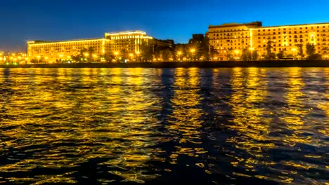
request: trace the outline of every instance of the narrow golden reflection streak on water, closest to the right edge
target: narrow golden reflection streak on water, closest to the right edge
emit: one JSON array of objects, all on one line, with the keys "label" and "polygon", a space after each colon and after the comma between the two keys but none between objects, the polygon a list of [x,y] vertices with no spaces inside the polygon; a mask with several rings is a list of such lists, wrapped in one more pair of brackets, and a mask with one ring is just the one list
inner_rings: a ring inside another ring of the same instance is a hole
[{"label": "narrow golden reflection streak on water, closest to the right edge", "polygon": [[302,135],[302,133],[304,133],[303,129],[305,128],[302,118],[304,118],[308,110],[304,109],[304,104],[302,103],[304,96],[302,88],[304,87],[304,83],[302,82],[301,69],[290,69],[288,76],[288,91],[285,95],[288,108],[283,109],[285,116],[281,119],[287,124],[289,130],[294,131],[292,135],[287,135],[284,142],[290,146],[295,146],[296,143],[306,144],[311,142],[311,136],[305,137]]}]

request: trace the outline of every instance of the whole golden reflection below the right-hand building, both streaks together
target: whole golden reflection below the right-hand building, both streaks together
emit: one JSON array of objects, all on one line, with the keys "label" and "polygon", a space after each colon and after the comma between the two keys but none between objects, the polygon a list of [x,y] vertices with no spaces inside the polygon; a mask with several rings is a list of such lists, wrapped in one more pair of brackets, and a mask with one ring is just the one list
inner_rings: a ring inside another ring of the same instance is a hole
[{"label": "whole golden reflection below the right-hand building, both streaks together", "polygon": [[[311,132],[310,130],[314,129],[312,126],[318,127],[319,124],[312,125],[304,123],[304,120],[307,119],[306,116],[312,110],[305,105],[307,104],[307,97],[318,98],[315,96],[318,94],[306,95],[303,93],[305,84],[302,81],[302,69],[292,68],[280,71],[280,73],[287,73],[283,81],[280,82],[286,85],[286,88],[283,89],[283,92],[285,92],[283,93],[283,100],[277,101],[284,101],[286,105],[270,110],[264,106],[266,103],[271,104],[271,102],[267,102],[266,100],[269,98],[269,92],[267,90],[268,82],[265,80],[266,69],[233,69],[231,78],[233,93],[230,101],[232,107],[231,114],[233,116],[231,122],[233,124],[227,127],[236,131],[237,135],[226,139],[226,142],[234,144],[237,149],[242,149],[241,152],[247,152],[248,154],[243,155],[236,150],[231,151],[230,154],[226,154],[236,159],[231,163],[233,167],[243,167],[245,169],[245,173],[233,173],[237,176],[247,177],[250,176],[250,172],[257,172],[256,169],[259,166],[268,166],[280,171],[281,175],[257,174],[254,177],[273,179],[282,183],[292,183],[296,179],[303,179],[299,175],[300,170],[316,169],[319,167],[316,164],[298,160],[281,160],[279,163],[278,161],[269,160],[271,153],[268,153],[268,151],[282,149],[283,146],[281,144],[287,145],[288,148],[296,147],[298,144],[299,146],[292,149],[292,151],[302,151],[302,149],[307,151],[306,149],[308,147],[311,149],[314,146],[321,146],[321,143],[323,143],[318,137],[314,138],[314,135],[312,137],[312,135],[308,134],[308,132]],[[311,75],[312,78],[317,77],[314,74]],[[309,85],[313,84],[309,83]],[[276,95],[275,97],[280,96]],[[328,104],[328,101],[326,104]],[[325,110],[323,107],[322,109]],[[273,118],[280,118],[281,122],[276,121],[273,123]],[[320,123],[320,127],[322,126],[323,123]],[[276,128],[273,131],[276,135],[281,136],[271,136],[271,128]],[[301,146],[301,144],[305,146]],[[250,157],[248,158],[247,156]],[[314,163],[319,163],[318,160],[321,160],[321,156],[314,155],[313,153],[305,154],[303,158],[312,158],[312,160],[316,160]],[[278,166],[290,170],[283,170],[278,168]]]}]

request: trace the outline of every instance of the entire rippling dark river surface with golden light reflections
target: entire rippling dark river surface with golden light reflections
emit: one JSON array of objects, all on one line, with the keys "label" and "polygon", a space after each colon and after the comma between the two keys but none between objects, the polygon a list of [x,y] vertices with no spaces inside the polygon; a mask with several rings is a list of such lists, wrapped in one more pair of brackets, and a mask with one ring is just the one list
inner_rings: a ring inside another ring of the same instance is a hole
[{"label": "entire rippling dark river surface with golden light reflections", "polygon": [[328,184],[329,68],[0,69],[0,184]]}]

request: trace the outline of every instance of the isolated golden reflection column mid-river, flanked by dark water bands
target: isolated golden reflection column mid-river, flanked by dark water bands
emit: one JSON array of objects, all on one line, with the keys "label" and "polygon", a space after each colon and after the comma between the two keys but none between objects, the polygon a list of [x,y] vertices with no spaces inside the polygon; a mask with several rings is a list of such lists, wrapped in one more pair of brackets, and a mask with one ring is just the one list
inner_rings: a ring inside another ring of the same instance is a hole
[{"label": "isolated golden reflection column mid-river, flanked by dark water bands", "polygon": [[201,129],[203,121],[200,91],[199,69],[176,69],[172,115],[167,129],[177,141],[176,151],[172,151],[171,163],[179,163],[183,156],[199,157],[206,151],[202,148]]}]

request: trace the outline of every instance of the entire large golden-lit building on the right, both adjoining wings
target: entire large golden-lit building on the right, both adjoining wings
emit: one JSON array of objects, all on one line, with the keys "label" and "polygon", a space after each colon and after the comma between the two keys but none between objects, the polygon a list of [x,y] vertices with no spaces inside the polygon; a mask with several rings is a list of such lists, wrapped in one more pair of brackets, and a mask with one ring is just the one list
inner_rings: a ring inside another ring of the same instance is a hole
[{"label": "entire large golden-lit building on the right, both adjoining wings", "polygon": [[302,44],[306,55],[307,43],[312,43],[316,53],[325,55],[329,46],[329,23],[274,27],[262,27],[262,22],[211,25],[207,36],[218,52],[217,60],[227,60],[229,53],[238,56],[244,48],[256,50],[259,57],[264,58],[269,41],[272,53],[283,50],[285,55],[295,56]]}]

